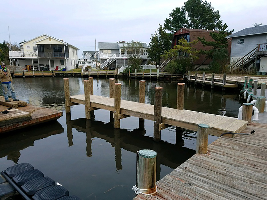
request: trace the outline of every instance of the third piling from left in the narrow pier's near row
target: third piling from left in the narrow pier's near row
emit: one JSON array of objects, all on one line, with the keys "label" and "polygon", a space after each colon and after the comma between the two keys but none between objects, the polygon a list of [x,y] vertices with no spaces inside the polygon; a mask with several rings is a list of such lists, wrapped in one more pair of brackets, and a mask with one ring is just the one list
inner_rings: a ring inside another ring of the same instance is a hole
[{"label": "third piling from left in the narrow pier's near row", "polygon": [[120,98],[121,98],[121,83],[115,83],[115,99],[114,99],[114,128],[120,128]]}]

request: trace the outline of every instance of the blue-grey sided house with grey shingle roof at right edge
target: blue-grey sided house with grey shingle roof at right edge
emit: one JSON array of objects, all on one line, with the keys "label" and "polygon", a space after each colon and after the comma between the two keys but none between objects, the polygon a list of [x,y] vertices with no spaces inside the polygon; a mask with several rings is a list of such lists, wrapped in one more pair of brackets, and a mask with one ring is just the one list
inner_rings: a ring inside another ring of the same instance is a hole
[{"label": "blue-grey sided house with grey shingle roof at right edge", "polygon": [[245,28],[226,38],[232,38],[233,67],[243,66],[246,69],[256,61],[257,71],[267,71],[267,57],[262,57],[267,55],[267,25]]}]

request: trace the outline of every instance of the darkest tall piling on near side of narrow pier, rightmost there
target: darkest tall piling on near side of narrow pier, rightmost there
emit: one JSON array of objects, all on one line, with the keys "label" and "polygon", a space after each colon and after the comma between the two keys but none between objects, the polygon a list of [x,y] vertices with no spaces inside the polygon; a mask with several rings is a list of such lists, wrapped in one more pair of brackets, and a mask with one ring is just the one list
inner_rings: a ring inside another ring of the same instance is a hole
[{"label": "darkest tall piling on near side of narrow pier, rightmost there", "polygon": [[161,123],[161,105],[162,105],[162,87],[155,87],[154,100],[154,141],[159,142],[161,139],[161,131],[159,125]]}]

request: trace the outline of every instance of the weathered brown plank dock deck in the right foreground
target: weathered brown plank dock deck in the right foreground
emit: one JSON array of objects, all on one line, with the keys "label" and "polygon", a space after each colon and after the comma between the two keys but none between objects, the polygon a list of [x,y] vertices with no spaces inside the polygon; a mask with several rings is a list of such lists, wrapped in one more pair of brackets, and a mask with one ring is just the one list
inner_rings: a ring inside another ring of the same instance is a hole
[{"label": "weathered brown plank dock deck in the right foreground", "polygon": [[249,123],[250,135],[220,137],[156,184],[145,199],[267,199],[267,124]]}]

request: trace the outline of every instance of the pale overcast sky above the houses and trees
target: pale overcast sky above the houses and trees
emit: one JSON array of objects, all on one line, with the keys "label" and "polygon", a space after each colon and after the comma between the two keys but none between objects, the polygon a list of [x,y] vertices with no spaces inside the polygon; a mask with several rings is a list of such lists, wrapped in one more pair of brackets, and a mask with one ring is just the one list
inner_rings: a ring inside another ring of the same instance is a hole
[{"label": "pale overcast sky above the houses and trees", "polygon": [[[253,23],[267,25],[266,0],[207,0],[223,23],[239,31]],[[150,42],[150,36],[184,0],[1,0],[0,41],[29,40],[48,34],[80,48],[96,42]]]}]

